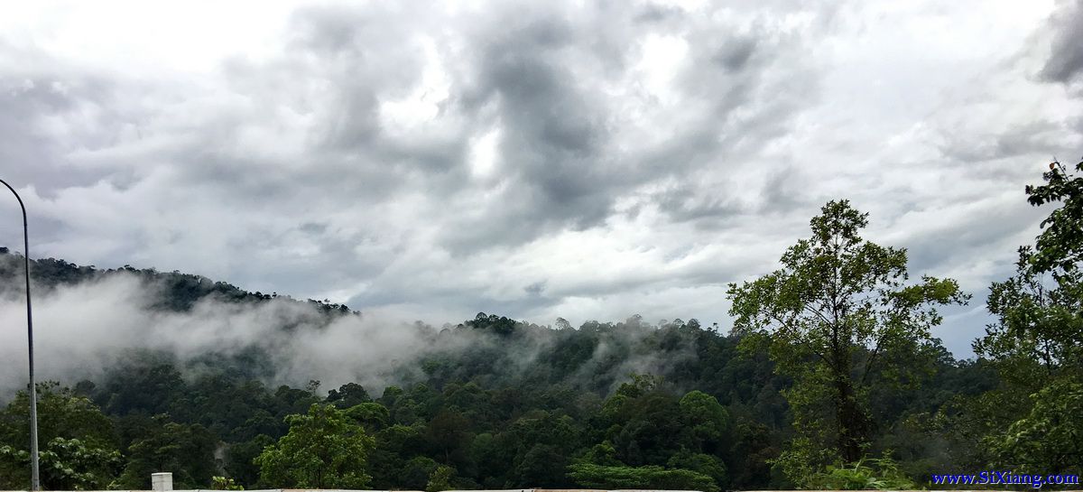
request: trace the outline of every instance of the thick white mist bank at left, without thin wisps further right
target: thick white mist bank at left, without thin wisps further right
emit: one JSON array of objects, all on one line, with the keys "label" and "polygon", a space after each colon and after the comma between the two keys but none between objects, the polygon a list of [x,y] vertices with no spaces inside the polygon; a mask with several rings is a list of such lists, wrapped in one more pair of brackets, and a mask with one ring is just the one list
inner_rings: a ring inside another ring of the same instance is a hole
[{"label": "thick white mist bank at left, without thin wisps further right", "polygon": [[[325,388],[347,381],[383,387],[388,380],[381,374],[431,350],[423,340],[435,335],[378,311],[328,319],[311,303],[286,298],[237,303],[207,297],[187,312],[164,311],[153,308],[159,287],[127,272],[35,293],[38,380],[95,380],[132,349],[167,352],[187,363],[258,348],[273,362],[269,384],[318,379]],[[27,380],[26,331],[18,329],[26,325],[26,305],[11,294],[0,303],[0,325],[6,327],[0,333],[3,394]]]}]

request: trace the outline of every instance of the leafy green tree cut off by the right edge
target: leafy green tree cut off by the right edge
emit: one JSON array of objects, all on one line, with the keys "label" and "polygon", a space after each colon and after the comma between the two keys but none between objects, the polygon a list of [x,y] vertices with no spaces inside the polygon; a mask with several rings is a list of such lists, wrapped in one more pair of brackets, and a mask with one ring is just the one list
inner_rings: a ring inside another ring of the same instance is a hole
[{"label": "leafy green tree cut off by the right edge", "polygon": [[[1042,221],[1034,246],[1019,249],[1016,274],[990,287],[996,321],[974,349],[1003,383],[970,413],[984,416],[991,465],[1062,471],[1083,466],[1083,177],[1053,163],[1042,178],[1026,187],[1027,200],[1059,207]],[[1005,400],[1010,411],[994,411]]]}]

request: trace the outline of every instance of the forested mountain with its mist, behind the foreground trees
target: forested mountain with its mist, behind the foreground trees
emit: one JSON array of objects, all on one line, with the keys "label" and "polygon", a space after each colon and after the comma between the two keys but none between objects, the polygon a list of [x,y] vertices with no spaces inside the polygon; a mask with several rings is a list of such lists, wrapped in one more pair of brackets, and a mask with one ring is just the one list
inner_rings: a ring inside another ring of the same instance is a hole
[{"label": "forested mountain with its mist, behind the foreground trees", "polygon": [[[82,482],[50,476],[49,488],[146,488],[159,469],[173,471],[179,488],[206,488],[214,476],[270,487],[253,458],[287,435],[287,416],[313,404],[340,409],[373,438],[366,472],[375,489],[422,489],[436,476],[490,489],[614,477],[701,489],[787,484],[768,459],[793,435],[783,398],[791,380],[766,352],[742,353],[739,337],[696,320],[636,315],[573,328],[479,313],[434,327],[180,272],[55,259],[32,260],[30,271],[43,340],[50,331],[68,334],[53,340],[76,340],[67,355],[39,345],[75,361],[40,389],[42,449],[63,459],[67,439],[117,456]],[[22,257],[0,250],[0,298],[12,320],[21,275]],[[105,327],[64,316],[73,311],[99,313]],[[80,338],[81,329],[99,335]],[[97,355],[80,359],[83,351]],[[996,385],[982,364],[945,350],[936,368],[923,389],[871,396],[870,451],[893,449],[915,476],[943,458],[937,442],[915,442],[915,416]],[[26,442],[25,393],[13,397],[0,416],[9,450]],[[0,489],[22,487],[17,453],[2,456]]]}]

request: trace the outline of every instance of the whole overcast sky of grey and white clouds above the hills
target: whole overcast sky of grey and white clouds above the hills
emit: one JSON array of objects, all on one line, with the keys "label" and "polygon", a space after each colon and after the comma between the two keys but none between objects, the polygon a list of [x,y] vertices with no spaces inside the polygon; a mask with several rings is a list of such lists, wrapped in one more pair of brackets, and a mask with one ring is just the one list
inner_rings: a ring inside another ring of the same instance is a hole
[{"label": "whole overcast sky of grey and white clouds above the hills", "polygon": [[[832,198],[975,294],[1083,154],[1083,2],[3,2],[31,256],[440,324],[731,324]],[[21,241],[14,200],[0,243]],[[45,329],[45,327],[41,327]]]}]

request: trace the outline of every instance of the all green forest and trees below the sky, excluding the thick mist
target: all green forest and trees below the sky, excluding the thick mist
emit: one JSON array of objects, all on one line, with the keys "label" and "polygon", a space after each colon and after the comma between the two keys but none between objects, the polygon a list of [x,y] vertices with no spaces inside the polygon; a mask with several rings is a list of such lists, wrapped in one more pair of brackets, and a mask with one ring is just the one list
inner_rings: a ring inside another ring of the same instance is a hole
[{"label": "all green forest and trees below the sky, excluding the thick mist", "polygon": [[[1078,472],[1083,178],[1058,167],[1044,178],[1020,206],[1029,199],[1049,219],[1020,249],[1018,274],[991,294],[910,279],[905,249],[862,237],[867,215],[838,200],[780,270],[731,285],[733,329],[639,315],[539,326],[479,313],[396,327],[417,350],[356,375],[382,385],[334,387],[319,374],[283,385],[282,361],[259,344],[198,357],[123,348],[93,378],[39,385],[43,487],[146,489],[160,470],[179,489],[703,491]],[[0,255],[5,298],[23,295],[21,266],[17,254]],[[304,323],[275,327],[298,340],[365,316],[178,272],[54,259],[30,271],[42,296],[134,277],[156,299],[149,309],[179,315],[208,302],[298,307]],[[987,294],[997,322],[976,340],[977,360],[955,360],[930,335],[936,309]],[[3,398],[0,489],[25,489],[28,399]]]}]

